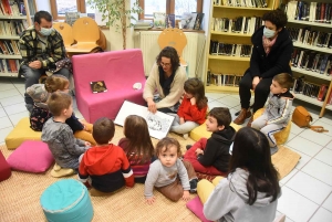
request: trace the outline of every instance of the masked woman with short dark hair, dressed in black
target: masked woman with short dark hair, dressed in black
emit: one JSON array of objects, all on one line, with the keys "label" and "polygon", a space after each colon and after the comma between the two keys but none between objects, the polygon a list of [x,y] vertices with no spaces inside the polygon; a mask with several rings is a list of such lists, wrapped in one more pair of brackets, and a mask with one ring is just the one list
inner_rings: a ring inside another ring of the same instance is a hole
[{"label": "masked woman with short dark hair, dressed in black", "polygon": [[255,101],[252,112],[262,108],[270,93],[270,85],[274,75],[280,73],[292,74],[289,65],[293,51],[293,43],[289,32],[284,29],[287,15],[277,9],[267,12],[262,20],[264,25],[259,28],[251,36],[253,44],[250,57],[250,67],[245,72],[239,84],[241,110],[234,120],[241,125],[249,117],[247,126],[251,126],[252,115],[249,110],[251,93],[253,89]]}]

